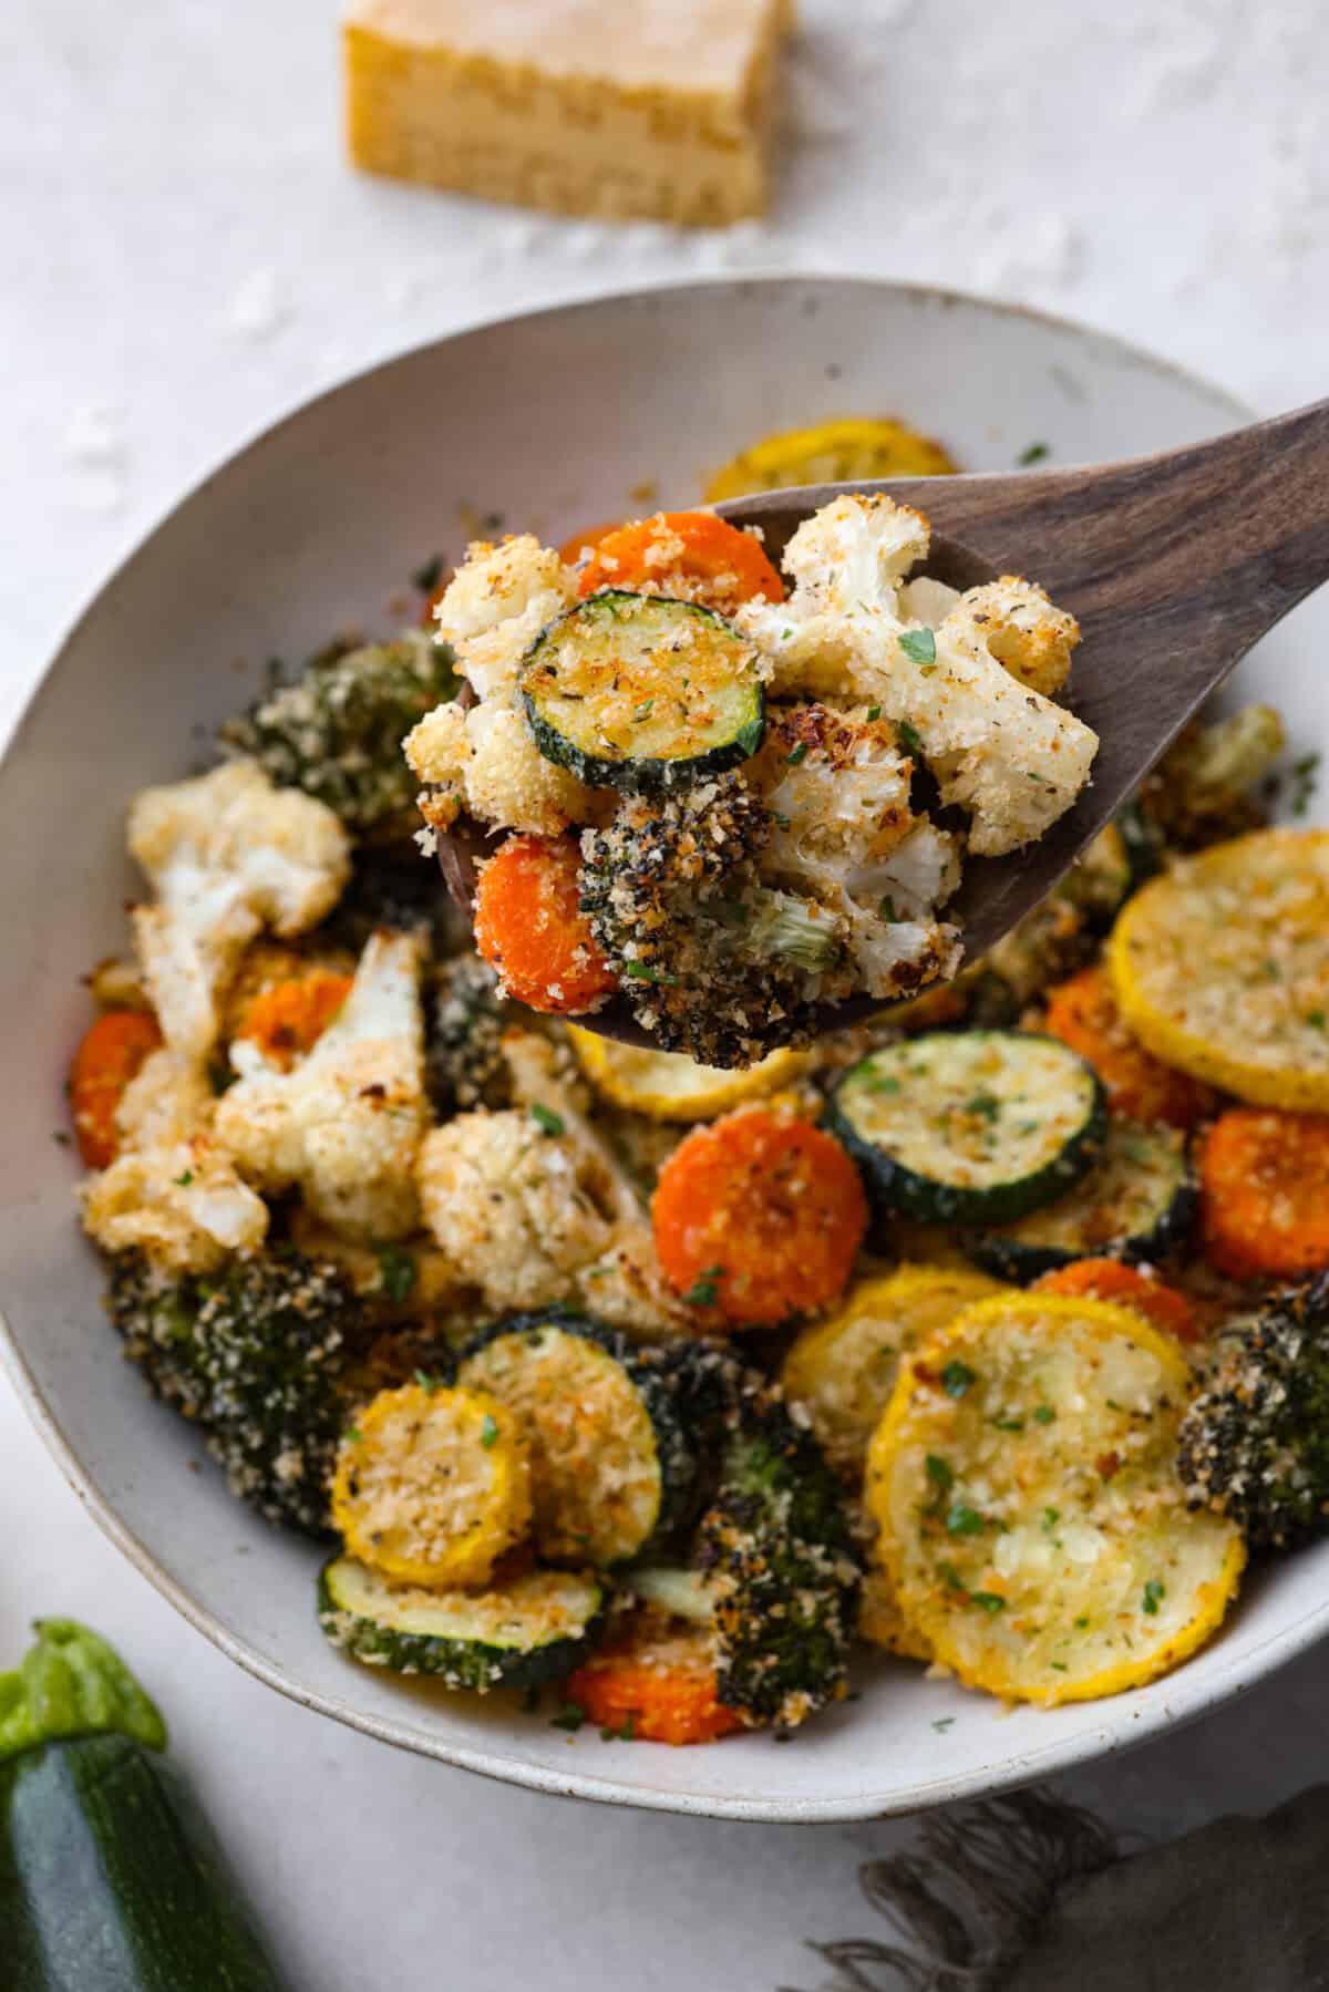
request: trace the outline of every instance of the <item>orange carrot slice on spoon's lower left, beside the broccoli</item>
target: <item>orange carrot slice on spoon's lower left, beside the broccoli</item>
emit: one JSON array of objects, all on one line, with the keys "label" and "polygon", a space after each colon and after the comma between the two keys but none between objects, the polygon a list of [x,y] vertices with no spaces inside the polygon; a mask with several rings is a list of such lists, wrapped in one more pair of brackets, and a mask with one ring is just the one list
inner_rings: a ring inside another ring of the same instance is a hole
[{"label": "orange carrot slice on spoon's lower left, beside the broccoli", "polygon": [[618,988],[582,912],[572,837],[510,837],[480,869],[476,948],[516,1002],[554,1016],[598,1010]]}]

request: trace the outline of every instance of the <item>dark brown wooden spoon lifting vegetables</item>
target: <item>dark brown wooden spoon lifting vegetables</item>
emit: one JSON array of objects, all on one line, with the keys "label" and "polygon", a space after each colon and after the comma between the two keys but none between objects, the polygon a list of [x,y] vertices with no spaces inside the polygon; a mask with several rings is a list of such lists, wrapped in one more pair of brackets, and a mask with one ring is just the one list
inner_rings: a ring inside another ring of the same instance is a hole
[{"label": "dark brown wooden spoon lifting vegetables", "polygon": [[[934,528],[927,574],[954,588],[1024,574],[1084,633],[1068,703],[1100,737],[1094,779],[1036,845],[964,861],[946,918],[974,960],[1048,896],[1251,643],[1329,580],[1329,400],[1122,464],[811,484],[717,512],[759,526],[779,562],[795,528],[843,492],[925,512]],[[474,861],[490,841],[458,825],[438,843],[448,886],[470,910]],[[855,996],[827,1008],[825,1028],[883,1008]],[[650,1042],[626,1002],[580,1022]]]}]

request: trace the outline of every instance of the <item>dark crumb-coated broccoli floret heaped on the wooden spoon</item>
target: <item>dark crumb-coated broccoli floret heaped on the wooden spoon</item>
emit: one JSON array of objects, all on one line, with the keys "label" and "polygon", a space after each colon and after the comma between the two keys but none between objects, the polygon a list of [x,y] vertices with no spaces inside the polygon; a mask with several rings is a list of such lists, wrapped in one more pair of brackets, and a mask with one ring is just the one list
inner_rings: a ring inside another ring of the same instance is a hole
[{"label": "dark crumb-coated broccoli floret heaped on the wooden spoon", "polygon": [[757,878],[765,805],[743,775],[665,797],[630,797],[582,837],[582,910],[665,1052],[751,1066],[807,1042],[833,922]]}]

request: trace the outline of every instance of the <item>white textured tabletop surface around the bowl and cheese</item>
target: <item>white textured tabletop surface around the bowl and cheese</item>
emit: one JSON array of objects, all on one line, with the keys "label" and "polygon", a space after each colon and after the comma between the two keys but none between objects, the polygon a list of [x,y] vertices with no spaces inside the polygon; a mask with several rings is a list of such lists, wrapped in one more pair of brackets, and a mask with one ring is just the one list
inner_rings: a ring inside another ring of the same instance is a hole
[{"label": "white textured tabletop surface around the bowl and cheese", "polygon": [[[727,237],[355,179],[331,14],[0,10],[18,112],[0,131],[0,723],[110,562],[243,434],[351,367],[546,297],[867,269],[1082,313],[1269,408],[1325,388],[1319,0],[803,0],[781,209]],[[817,1980],[799,1938],[871,1926],[853,1867],[899,1829],[574,1811],[281,1703],[102,1542],[8,1398],[0,1512],[22,1518],[0,1653],[52,1610],[124,1641],[309,1988],[506,1992],[538,1968],[550,1992],[759,1992]],[[1144,1829],[1271,1803],[1323,1763],[1321,1671],[1311,1655],[1074,1791]]]}]

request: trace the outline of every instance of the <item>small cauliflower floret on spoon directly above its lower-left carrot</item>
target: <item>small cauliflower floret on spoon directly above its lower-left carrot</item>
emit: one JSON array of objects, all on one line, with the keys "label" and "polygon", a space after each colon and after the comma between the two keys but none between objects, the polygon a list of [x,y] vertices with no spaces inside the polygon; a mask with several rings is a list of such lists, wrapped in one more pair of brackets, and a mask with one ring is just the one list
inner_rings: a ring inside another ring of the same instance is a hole
[{"label": "small cauliflower floret on spoon directly above its lower-left carrot", "polygon": [[420,811],[436,831],[464,809],[496,829],[558,837],[592,813],[590,789],[544,759],[514,705],[440,705],[406,737],[406,759],[426,783]]}]

